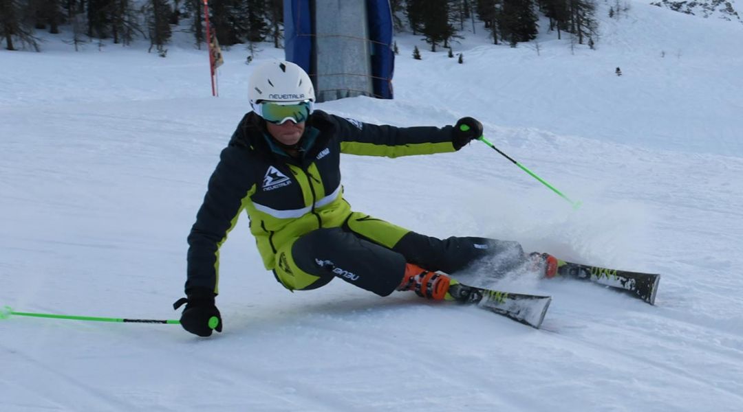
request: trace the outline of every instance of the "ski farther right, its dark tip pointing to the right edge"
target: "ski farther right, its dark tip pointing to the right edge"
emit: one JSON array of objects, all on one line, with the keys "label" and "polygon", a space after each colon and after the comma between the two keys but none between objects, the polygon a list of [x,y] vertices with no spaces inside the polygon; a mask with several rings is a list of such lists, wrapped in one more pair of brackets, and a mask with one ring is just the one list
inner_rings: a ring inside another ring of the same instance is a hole
[{"label": "ski farther right, its dark tip pointing to the right edge", "polygon": [[559,259],[557,276],[597,283],[641,299],[650,305],[655,305],[655,294],[658,293],[658,282],[661,280],[661,275],[657,273],[599,268]]}]

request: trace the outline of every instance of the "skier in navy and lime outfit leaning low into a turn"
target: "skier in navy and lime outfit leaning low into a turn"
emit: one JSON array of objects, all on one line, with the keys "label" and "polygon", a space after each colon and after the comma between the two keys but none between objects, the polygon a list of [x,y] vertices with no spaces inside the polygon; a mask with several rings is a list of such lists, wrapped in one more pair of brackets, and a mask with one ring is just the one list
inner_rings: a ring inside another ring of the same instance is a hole
[{"label": "skier in navy and lime outfit leaning low into a turn", "polygon": [[343,199],[340,153],[454,152],[482,136],[476,119],[441,128],[393,127],[314,110],[312,82],[291,62],[256,67],[248,96],[253,111],[222,150],[188,236],[187,297],[173,306],[186,304],[181,325],[189,332],[210,336],[212,329],[222,330],[215,306],[219,247],[242,210],[263,265],[288,290],[319,288],[339,277],[379,296],[414,290],[429,299],[450,299],[447,291],[456,281],[444,273],[495,255],[506,267],[534,261],[554,275],[557,259],[525,255],[516,242],[436,239],[353,211]]}]

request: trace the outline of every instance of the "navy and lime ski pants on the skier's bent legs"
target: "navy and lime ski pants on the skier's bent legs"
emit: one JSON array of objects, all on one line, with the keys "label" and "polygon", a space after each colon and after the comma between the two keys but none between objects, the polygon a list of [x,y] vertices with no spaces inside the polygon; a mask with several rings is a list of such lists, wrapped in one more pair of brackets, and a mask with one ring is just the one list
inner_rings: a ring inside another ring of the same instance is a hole
[{"label": "navy and lime ski pants on the skier's bent legs", "polygon": [[313,230],[279,250],[273,273],[290,290],[316,289],[339,277],[387,296],[402,282],[406,263],[454,274],[499,254],[520,262],[523,250],[517,242],[481,237],[437,239],[352,213],[343,226]]}]

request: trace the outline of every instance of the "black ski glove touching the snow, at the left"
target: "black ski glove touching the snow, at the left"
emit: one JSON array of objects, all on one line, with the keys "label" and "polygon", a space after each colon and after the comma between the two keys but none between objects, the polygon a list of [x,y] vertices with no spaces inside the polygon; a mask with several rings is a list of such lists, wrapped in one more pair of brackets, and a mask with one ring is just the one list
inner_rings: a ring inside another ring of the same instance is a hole
[{"label": "black ski glove touching the snow, at the left", "polygon": [[[188,298],[178,299],[173,309],[178,310],[186,304],[181,314],[181,326],[198,336],[211,336],[212,330],[222,331],[222,316],[214,305],[214,292],[207,288],[189,290]],[[213,318],[213,319],[212,319]]]}]

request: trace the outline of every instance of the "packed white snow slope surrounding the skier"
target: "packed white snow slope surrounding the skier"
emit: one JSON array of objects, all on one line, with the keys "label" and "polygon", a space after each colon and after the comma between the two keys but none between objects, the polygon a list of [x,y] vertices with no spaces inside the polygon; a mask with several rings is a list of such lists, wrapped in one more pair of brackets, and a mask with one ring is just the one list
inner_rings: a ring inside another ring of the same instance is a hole
[{"label": "packed white snow slope surrounding the skier", "polygon": [[[493,46],[478,26],[457,64],[398,36],[394,100],[319,107],[398,126],[481,119],[583,207],[479,142],[345,156],[346,199],[433,236],[662,273],[656,306],[478,271],[470,282],[553,296],[543,328],[338,279],[289,293],[242,218],[221,251],[224,333],[11,316],[0,411],[741,411],[743,25],[648,2],[620,20],[602,3],[597,50],[554,33],[539,50]],[[186,235],[255,64],[226,52],[215,99],[186,41],[166,59],[144,44],[42,47],[0,51],[0,307],[178,319]],[[266,45],[256,61],[280,57]]]}]

